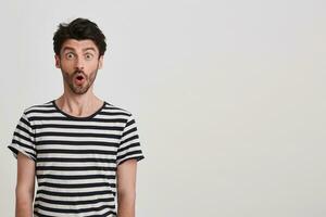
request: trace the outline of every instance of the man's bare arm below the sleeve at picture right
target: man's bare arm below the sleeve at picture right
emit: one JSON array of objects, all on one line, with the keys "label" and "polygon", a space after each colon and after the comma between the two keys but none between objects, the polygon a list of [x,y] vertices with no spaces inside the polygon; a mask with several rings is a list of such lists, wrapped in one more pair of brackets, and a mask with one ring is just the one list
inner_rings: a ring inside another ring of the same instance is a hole
[{"label": "man's bare arm below the sleeve at picture right", "polygon": [[135,217],[137,161],[117,166],[117,216]]}]

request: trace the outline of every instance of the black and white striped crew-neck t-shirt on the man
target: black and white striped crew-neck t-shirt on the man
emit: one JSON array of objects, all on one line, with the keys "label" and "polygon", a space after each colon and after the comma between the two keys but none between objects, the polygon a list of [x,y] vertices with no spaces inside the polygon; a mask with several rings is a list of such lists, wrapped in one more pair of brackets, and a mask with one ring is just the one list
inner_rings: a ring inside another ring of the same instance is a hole
[{"label": "black and white striped crew-neck t-shirt on the man", "polygon": [[35,217],[115,217],[116,168],[145,158],[131,113],[105,101],[88,117],[29,106],[8,148],[36,163]]}]

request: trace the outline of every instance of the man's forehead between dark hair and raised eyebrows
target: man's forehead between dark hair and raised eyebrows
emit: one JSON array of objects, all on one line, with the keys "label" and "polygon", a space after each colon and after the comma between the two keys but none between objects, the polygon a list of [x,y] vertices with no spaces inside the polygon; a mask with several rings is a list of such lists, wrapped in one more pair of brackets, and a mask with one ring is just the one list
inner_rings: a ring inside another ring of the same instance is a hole
[{"label": "man's forehead between dark hair and raised eyebrows", "polygon": [[84,51],[86,49],[93,49],[99,52],[96,43],[90,39],[76,40],[76,39],[67,39],[63,42],[61,47],[61,51],[64,50],[74,50],[74,51]]}]

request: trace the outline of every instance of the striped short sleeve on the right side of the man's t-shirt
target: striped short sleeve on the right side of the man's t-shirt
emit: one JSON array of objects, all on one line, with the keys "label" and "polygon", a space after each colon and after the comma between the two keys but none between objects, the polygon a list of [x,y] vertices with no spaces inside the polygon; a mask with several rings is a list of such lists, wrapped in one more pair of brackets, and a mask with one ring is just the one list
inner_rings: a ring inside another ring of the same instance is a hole
[{"label": "striped short sleeve on the right side of the man's t-shirt", "polygon": [[124,127],[121,142],[117,149],[116,165],[118,166],[127,159],[136,158],[137,162],[143,159],[138,130],[135,118],[130,114]]}]

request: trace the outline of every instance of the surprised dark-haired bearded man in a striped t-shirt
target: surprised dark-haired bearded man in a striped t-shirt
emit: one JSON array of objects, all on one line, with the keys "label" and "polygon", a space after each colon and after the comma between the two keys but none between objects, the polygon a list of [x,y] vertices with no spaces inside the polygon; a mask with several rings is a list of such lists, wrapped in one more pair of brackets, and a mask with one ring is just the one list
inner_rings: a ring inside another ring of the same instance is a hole
[{"label": "surprised dark-haired bearded man in a striped t-shirt", "polygon": [[53,47],[64,92],[25,108],[8,146],[17,158],[16,217],[134,217],[145,158],[135,118],[92,91],[105,37],[76,18],[59,25]]}]

